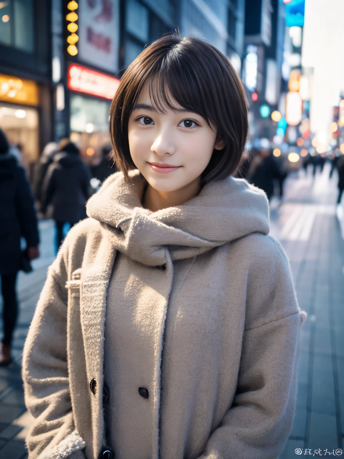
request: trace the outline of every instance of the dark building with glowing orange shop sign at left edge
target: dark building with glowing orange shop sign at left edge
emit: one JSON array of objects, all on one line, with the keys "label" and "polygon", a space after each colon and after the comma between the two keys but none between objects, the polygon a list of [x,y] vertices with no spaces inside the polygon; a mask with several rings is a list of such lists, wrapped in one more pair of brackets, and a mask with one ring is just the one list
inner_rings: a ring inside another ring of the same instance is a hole
[{"label": "dark building with glowing orange shop sign at left edge", "polygon": [[28,166],[51,139],[50,7],[0,2],[0,128]]}]

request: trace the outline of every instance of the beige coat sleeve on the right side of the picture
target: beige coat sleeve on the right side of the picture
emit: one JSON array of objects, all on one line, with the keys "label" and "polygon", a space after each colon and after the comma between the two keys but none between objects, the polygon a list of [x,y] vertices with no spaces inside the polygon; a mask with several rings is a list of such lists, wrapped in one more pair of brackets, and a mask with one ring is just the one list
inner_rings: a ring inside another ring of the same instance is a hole
[{"label": "beige coat sleeve on the right side of the picture", "polygon": [[303,315],[282,248],[257,264],[248,276],[237,391],[199,459],[276,459],[291,431]]}]

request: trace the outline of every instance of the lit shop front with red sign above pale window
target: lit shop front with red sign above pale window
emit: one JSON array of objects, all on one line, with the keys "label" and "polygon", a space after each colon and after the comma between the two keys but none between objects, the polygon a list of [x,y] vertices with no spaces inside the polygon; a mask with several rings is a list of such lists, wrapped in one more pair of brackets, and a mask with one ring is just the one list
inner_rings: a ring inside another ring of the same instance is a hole
[{"label": "lit shop front with red sign above pale window", "polygon": [[71,140],[78,144],[85,162],[100,159],[103,146],[110,145],[109,116],[119,80],[78,64],[68,68],[67,86],[71,90]]}]

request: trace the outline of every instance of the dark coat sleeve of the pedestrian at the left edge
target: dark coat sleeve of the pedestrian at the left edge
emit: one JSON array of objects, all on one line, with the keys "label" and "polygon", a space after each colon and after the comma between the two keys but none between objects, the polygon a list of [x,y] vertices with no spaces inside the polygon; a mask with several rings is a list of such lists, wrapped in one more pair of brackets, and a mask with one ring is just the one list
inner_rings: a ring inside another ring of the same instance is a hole
[{"label": "dark coat sleeve of the pedestrian at the left edge", "polygon": [[33,194],[22,167],[17,168],[17,174],[15,202],[22,235],[28,246],[37,246],[39,233]]}]

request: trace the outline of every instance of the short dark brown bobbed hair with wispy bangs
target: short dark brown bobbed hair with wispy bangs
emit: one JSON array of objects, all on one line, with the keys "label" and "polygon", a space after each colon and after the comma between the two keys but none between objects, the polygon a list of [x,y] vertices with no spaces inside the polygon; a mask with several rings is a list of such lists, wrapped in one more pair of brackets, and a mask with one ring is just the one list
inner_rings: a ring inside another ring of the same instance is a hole
[{"label": "short dark brown bobbed hair with wispy bangs", "polygon": [[234,174],[248,133],[243,85],[227,57],[214,46],[173,34],[155,41],[129,65],[112,101],[113,159],[124,175],[136,168],[129,151],[128,121],[146,81],[157,110],[173,109],[176,101],[216,126],[225,147],[213,151],[202,183]]}]

